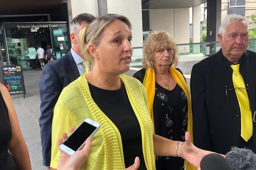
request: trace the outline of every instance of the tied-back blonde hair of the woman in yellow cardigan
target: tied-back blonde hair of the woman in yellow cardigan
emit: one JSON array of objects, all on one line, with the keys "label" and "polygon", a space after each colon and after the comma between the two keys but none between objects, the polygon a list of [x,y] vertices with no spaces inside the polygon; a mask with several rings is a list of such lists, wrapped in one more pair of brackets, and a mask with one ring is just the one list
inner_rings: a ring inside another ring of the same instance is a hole
[{"label": "tied-back blonde hair of the woman in yellow cardigan", "polygon": [[101,41],[104,28],[115,20],[125,22],[128,25],[129,29],[132,29],[132,24],[129,19],[123,15],[118,14],[102,15],[95,19],[93,22],[91,22],[89,26],[84,26],[81,28],[79,33],[81,52],[83,58],[85,60],[90,60],[92,65],[94,64],[94,57],[91,56],[89,52],[89,44],[94,44],[95,46],[98,46]]}]

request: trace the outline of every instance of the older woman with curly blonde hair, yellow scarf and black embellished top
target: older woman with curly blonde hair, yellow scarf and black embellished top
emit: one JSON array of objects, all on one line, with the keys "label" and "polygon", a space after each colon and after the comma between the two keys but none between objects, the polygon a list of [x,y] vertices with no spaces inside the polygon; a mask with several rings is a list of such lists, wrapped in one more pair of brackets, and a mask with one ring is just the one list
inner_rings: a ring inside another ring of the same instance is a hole
[{"label": "older woman with curly blonde hair, yellow scarf and black embellished top", "polygon": [[[155,31],[143,46],[144,69],[136,72],[133,77],[140,80],[147,90],[155,134],[169,140],[185,141],[185,132],[188,131],[193,142],[190,92],[181,70],[174,68],[177,63],[175,40],[165,31]],[[170,167],[181,170],[183,165],[182,158],[156,157],[159,170]]]}]

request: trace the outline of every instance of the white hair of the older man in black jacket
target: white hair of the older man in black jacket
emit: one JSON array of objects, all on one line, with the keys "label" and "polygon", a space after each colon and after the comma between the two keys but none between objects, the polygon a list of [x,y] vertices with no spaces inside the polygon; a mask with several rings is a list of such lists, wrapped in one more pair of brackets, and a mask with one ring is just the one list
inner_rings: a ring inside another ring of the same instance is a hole
[{"label": "white hair of the older man in black jacket", "polygon": [[219,27],[219,34],[222,34],[222,36],[223,36],[223,38],[224,38],[225,31],[226,31],[226,27],[227,27],[228,25],[230,25],[231,23],[237,22],[237,21],[244,21],[244,23],[246,24],[246,26],[247,26],[247,28],[248,28],[249,22],[248,22],[248,20],[246,19],[245,16],[243,17],[243,16],[238,15],[238,14],[228,14],[228,15],[224,18],[224,20],[223,20],[221,26]]}]

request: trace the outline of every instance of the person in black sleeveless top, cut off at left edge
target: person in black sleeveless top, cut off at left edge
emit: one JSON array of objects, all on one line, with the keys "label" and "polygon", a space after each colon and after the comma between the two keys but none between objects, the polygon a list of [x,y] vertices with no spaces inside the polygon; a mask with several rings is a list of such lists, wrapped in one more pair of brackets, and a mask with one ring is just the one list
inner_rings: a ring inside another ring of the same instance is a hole
[{"label": "person in black sleeveless top, cut off at left edge", "polygon": [[0,169],[31,170],[29,152],[7,88],[0,83]]}]

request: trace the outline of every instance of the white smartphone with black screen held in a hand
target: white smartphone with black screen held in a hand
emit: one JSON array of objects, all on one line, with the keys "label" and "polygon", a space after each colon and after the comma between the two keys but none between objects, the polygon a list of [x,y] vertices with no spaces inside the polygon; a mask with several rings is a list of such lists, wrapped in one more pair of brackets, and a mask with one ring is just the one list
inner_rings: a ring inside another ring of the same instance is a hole
[{"label": "white smartphone with black screen held in a hand", "polygon": [[76,151],[83,148],[85,141],[88,137],[92,137],[97,130],[99,130],[100,124],[91,120],[85,119],[68,137],[61,143],[59,148],[67,153],[73,155]]}]

